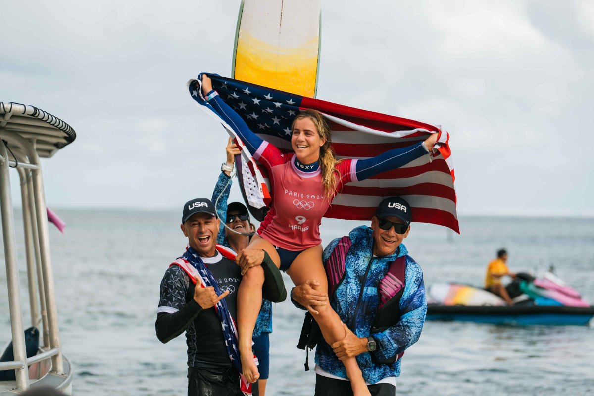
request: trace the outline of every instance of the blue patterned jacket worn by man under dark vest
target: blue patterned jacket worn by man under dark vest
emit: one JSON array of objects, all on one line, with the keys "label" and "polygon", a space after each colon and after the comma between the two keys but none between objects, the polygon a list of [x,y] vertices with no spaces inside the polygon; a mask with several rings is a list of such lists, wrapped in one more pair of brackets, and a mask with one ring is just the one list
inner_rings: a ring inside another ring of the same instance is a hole
[{"label": "blue patterned jacket worn by man under dark vest", "polygon": [[[367,226],[353,229],[349,233],[349,237],[353,244],[346,256],[345,278],[337,287],[334,295],[330,296],[330,305],[355,335],[358,337],[372,335],[375,338],[378,346],[377,351],[362,353],[356,357],[365,381],[375,384],[380,379],[388,376],[399,376],[400,359],[391,365],[383,365],[374,363],[371,359],[371,353],[375,353],[380,360],[390,359],[390,357],[395,357],[405,351],[421,335],[425,322],[425,313],[427,312],[423,273],[421,267],[408,256],[408,251],[403,244],[400,244],[394,255],[374,257],[372,254],[373,231]],[[324,249],[324,262],[330,257],[339,239],[334,239]],[[400,299],[400,319],[392,327],[371,334],[371,325],[380,302],[378,283],[386,275],[388,264],[405,255],[405,290]],[[371,268],[365,277],[366,269],[371,260],[373,260]],[[361,294],[361,302],[358,304],[362,285],[364,285],[364,289]],[[315,363],[332,375],[348,378],[345,366],[337,359],[330,346],[323,339],[318,342],[315,351]]]}]

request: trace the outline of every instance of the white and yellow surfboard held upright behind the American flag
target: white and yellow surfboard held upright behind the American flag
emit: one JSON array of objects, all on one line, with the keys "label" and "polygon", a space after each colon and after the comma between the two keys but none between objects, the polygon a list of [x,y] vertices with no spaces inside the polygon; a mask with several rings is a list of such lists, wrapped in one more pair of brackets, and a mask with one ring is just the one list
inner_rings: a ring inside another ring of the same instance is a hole
[{"label": "white and yellow surfboard held upright behind the American flag", "polygon": [[[302,96],[315,97],[320,69],[321,0],[242,0],[235,30],[231,76]],[[268,207],[259,180],[235,157],[249,212],[264,220]],[[268,185],[266,175],[264,182]],[[270,188],[268,188],[270,191]],[[268,191],[265,197],[270,198]]]}]

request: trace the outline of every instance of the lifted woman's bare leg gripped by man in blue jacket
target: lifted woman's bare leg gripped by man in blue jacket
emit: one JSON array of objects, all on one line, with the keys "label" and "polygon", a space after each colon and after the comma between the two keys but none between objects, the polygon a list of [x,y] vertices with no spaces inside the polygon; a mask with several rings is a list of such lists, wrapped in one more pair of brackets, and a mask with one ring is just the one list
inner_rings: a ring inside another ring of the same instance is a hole
[{"label": "lifted woman's bare leg gripped by man in blue jacket", "polygon": [[[322,252],[322,245],[318,245],[297,256],[287,271],[294,284],[304,284],[307,280],[315,279],[320,283],[320,286],[315,286],[314,289],[320,293],[328,293],[328,280],[322,264]],[[314,319],[320,326],[324,340],[328,344],[342,340],[346,335],[345,330],[342,327],[340,316],[334,312],[334,309],[329,305],[317,306],[315,309],[320,312],[318,315],[314,315]],[[357,360],[351,357],[344,360],[343,364],[345,365],[346,375],[350,379],[350,385],[353,388],[353,395],[371,395],[367,385],[365,385]]]}]

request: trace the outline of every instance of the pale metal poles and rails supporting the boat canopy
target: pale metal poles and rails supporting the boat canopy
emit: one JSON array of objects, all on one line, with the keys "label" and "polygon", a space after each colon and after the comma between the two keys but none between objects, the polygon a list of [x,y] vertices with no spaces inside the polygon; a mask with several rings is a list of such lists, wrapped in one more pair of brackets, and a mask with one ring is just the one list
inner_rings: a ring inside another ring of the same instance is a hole
[{"label": "pale metal poles and rails supporting the boat canopy", "polygon": [[[4,103],[0,104],[4,106]],[[26,107],[23,108],[26,110]],[[35,363],[51,360],[49,373],[64,377],[67,373],[65,373],[65,359],[62,356],[59,335],[48,216],[42,170],[36,150],[37,140],[34,135],[26,132],[2,129],[10,116],[8,112],[4,113],[4,119],[0,115],[0,206],[14,361],[0,363],[0,370],[15,370],[16,387],[12,390],[20,392],[29,388],[28,367]],[[37,120],[33,121],[37,122]],[[56,140],[59,141],[59,139],[56,137]],[[65,143],[68,144],[68,141],[65,140]],[[23,311],[21,311],[10,167],[16,168],[20,178],[30,323],[31,326],[40,327],[40,338],[42,338],[40,344],[43,343],[40,348],[41,353],[29,358],[27,358],[24,337]],[[70,372],[69,363],[67,365]]]}]

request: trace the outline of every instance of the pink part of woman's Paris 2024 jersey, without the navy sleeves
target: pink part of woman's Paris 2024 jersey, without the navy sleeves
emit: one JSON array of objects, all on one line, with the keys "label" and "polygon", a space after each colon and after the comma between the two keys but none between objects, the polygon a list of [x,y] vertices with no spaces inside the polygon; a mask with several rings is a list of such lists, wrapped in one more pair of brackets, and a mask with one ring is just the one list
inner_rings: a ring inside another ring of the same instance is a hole
[{"label": "pink part of woman's Paris 2024 jersey, without the navy sleeves", "polygon": [[331,197],[324,197],[321,170],[303,172],[295,167],[294,153],[282,154],[274,145],[264,141],[254,155],[268,168],[273,191],[270,211],[258,228],[258,235],[273,245],[288,251],[302,251],[319,245],[322,217],[343,184],[356,182],[355,159],[336,165],[339,171],[336,189]]}]

